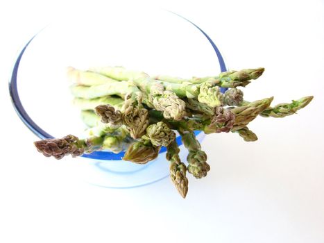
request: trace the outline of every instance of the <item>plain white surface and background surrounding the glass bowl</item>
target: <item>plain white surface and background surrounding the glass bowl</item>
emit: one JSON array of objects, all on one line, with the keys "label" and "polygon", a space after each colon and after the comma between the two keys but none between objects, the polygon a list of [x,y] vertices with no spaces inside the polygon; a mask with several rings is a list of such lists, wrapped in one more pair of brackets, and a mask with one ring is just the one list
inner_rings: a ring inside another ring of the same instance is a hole
[{"label": "plain white surface and background surrounding the glass bowl", "polygon": [[255,143],[208,136],[212,170],[189,178],[185,200],[169,180],[132,190],[85,185],[71,177],[76,160],[35,153],[36,137],[9,101],[10,67],[44,19],[79,4],[0,3],[0,242],[324,242],[323,1],[160,4],[209,33],[230,68],[266,67],[246,97],[315,96],[298,115],[254,121]]}]

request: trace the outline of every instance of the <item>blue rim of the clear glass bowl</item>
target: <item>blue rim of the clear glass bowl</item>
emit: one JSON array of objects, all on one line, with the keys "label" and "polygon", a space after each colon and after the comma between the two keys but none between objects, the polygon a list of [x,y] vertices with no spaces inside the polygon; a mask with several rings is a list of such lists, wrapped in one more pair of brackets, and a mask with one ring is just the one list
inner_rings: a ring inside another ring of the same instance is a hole
[{"label": "blue rim of the clear glass bowl", "polygon": [[[171,11],[168,11],[168,12],[171,12]],[[190,24],[192,24],[193,26],[195,26],[198,29],[198,31],[200,31],[207,38],[207,40],[212,45],[212,47],[216,53],[216,56],[219,60],[219,67],[221,69],[221,72],[226,72],[227,69],[225,66],[225,62],[223,60],[223,56],[221,56],[221,52],[216,47],[216,44],[214,44],[212,39],[205,33],[205,31],[203,31],[200,27],[198,27],[196,24],[191,22],[189,19],[182,17],[181,15],[178,15],[176,12],[171,12],[171,13],[174,15],[177,15],[178,17],[181,17],[182,19],[185,19],[185,21],[187,21]],[[31,119],[31,117],[29,117],[29,115],[27,114],[26,110],[24,109],[24,106],[22,105],[22,101],[20,101],[20,97],[19,97],[19,93],[18,93],[18,89],[17,89],[17,75],[18,75],[20,61],[22,60],[22,56],[24,55],[24,52],[26,51],[28,45],[31,44],[31,42],[37,35],[38,35],[38,33],[35,34],[33,37],[31,37],[31,40],[29,40],[22,48],[22,51],[19,52],[19,55],[15,61],[15,65],[13,66],[12,74],[11,74],[11,77],[9,80],[9,92],[10,92],[10,97],[11,97],[11,101],[12,101],[12,106],[14,106],[14,108],[17,112],[17,115],[24,122],[24,124],[29,128],[29,130],[31,130],[35,135],[37,135],[41,139],[49,139],[49,138],[53,138],[53,136],[50,135],[49,133],[46,133],[42,128],[40,128],[40,126],[38,126],[35,123],[35,121],[33,121],[33,119]],[[221,92],[225,92],[226,90],[227,90],[227,88],[221,88]],[[201,131],[196,131],[195,135],[198,135],[199,133],[201,133]],[[178,136],[176,138],[176,141],[179,145],[182,144],[180,136]],[[160,153],[164,153],[165,151],[167,151],[167,148],[162,147],[162,149],[160,150]],[[123,158],[124,154],[125,154],[124,151],[121,153],[112,153],[110,151],[96,151],[96,152],[92,152],[89,154],[84,154],[82,157],[92,158],[92,159],[96,159],[96,160],[121,160],[121,158]]]}]

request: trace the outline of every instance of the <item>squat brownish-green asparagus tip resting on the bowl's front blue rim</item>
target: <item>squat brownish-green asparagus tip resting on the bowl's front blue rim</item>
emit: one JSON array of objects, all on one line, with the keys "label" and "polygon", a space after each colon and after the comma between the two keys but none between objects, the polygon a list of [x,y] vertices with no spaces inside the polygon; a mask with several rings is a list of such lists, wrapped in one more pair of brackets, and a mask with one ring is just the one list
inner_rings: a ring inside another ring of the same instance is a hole
[{"label": "squat brownish-green asparagus tip resting on the bowl's front blue rim", "polygon": [[123,160],[135,162],[137,164],[146,164],[148,161],[157,158],[160,146],[154,146],[151,142],[137,141],[130,144]]}]

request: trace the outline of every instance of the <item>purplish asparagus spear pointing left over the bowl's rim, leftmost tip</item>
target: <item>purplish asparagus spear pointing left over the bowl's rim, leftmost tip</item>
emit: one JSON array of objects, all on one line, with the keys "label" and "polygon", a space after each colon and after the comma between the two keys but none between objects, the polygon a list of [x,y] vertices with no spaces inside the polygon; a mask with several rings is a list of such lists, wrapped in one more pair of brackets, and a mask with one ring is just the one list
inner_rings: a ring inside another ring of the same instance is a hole
[{"label": "purplish asparagus spear pointing left over the bowl's rim, leftmost tip", "polygon": [[74,135],[67,135],[62,138],[46,139],[34,142],[37,151],[46,157],[53,156],[60,160],[64,156],[82,156],[83,153],[91,153],[101,148],[103,137],[89,137],[79,140]]}]

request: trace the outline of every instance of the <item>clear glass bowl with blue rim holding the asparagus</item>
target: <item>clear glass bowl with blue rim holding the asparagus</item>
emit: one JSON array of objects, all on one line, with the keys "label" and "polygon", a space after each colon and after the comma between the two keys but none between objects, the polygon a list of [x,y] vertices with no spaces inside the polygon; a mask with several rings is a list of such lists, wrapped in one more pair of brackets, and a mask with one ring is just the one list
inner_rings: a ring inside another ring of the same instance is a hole
[{"label": "clear glass bowl with blue rim holding the asparagus", "polygon": [[[31,37],[19,53],[10,80],[17,114],[41,139],[80,135],[85,125],[80,110],[71,105],[66,67],[104,65],[182,77],[216,75],[226,70],[210,37],[173,12],[73,12]],[[203,133],[196,135],[203,140]],[[177,142],[180,158],[186,161],[180,137]],[[88,183],[103,187],[147,185],[169,176],[166,149],[160,153],[146,165],[137,165],[121,160],[123,152],[98,151],[76,158],[80,160],[78,173]]]}]

